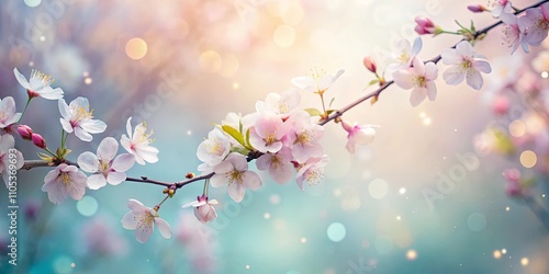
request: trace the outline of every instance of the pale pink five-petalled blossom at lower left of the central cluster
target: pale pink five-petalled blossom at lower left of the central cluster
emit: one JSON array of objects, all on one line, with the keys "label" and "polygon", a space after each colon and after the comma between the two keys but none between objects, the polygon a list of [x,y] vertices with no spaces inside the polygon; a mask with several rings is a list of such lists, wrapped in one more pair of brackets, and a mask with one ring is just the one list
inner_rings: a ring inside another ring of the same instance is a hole
[{"label": "pale pink five-petalled blossom at lower left of the central cluster", "polygon": [[248,170],[248,162],[243,155],[232,152],[220,164],[213,168],[215,174],[210,179],[213,187],[227,185],[228,196],[240,203],[246,195],[246,187],[257,191],[261,180],[257,173]]}]

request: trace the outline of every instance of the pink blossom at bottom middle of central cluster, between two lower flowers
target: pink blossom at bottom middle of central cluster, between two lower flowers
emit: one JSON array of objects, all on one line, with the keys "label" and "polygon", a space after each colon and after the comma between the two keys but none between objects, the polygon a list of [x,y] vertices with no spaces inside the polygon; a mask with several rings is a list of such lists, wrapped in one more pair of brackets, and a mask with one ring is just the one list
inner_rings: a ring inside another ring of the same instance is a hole
[{"label": "pink blossom at bottom middle of central cluster, between two lower flowers", "polygon": [[283,147],[277,153],[265,153],[256,160],[258,170],[269,170],[269,175],[279,184],[290,181],[293,174],[292,155]]}]

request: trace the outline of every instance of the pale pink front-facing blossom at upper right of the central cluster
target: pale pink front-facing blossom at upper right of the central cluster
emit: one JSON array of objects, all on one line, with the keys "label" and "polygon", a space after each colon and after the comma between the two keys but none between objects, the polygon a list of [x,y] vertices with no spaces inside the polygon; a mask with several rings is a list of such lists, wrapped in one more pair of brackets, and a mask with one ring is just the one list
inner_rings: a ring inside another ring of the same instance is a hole
[{"label": "pale pink front-facing blossom at upper right of the central cluster", "polygon": [[309,158],[321,157],[324,153],[320,144],[324,127],[313,123],[309,113],[299,111],[290,116],[285,123],[288,123],[289,129],[284,145],[290,148],[298,162],[305,162]]}]

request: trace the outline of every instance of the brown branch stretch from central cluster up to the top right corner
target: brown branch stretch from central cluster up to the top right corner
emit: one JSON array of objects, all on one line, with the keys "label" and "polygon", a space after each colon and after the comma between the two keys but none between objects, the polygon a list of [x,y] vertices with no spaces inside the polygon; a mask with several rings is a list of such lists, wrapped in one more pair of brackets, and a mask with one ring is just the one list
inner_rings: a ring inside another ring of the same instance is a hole
[{"label": "brown branch stretch from central cluster up to the top right corner", "polygon": [[[544,1],[540,1],[540,2],[538,2],[538,3],[533,4],[533,5],[530,5],[530,7],[527,7],[527,8],[524,8],[524,9],[522,9],[522,10],[518,10],[518,11],[516,11],[516,12],[515,12],[515,14],[519,14],[519,13],[522,13],[522,12],[525,12],[525,11],[526,11],[526,10],[528,10],[528,9],[531,9],[531,8],[537,8],[537,7],[541,5],[541,4],[542,4],[542,3],[545,3],[545,2],[549,2],[549,0],[544,0]],[[501,25],[502,23],[503,23],[503,21],[501,21],[501,20],[500,20],[500,21],[497,21],[497,22],[495,22],[495,23],[493,23],[493,24],[491,24],[491,25],[489,25],[489,26],[486,26],[486,27],[484,27],[484,28],[482,28],[482,30],[480,30],[480,31],[474,32],[474,34],[472,35],[472,38],[473,38],[473,39],[477,39],[477,38],[479,38],[480,36],[488,34],[490,31],[492,31],[494,27],[496,27],[496,26]],[[463,38],[463,39],[461,39],[461,41],[464,41],[464,39],[466,39],[466,38]],[[461,41],[459,41],[459,42],[461,42]],[[458,42],[458,43],[456,43],[456,44],[455,44],[451,48],[456,48],[456,46],[459,44],[459,42]],[[437,55],[437,56],[435,56],[434,58],[432,58],[432,59],[427,60],[426,62],[433,61],[434,64],[437,64],[438,61],[440,61],[440,59],[441,59],[441,58],[442,58],[442,57],[441,57],[441,55]],[[365,96],[362,96],[362,98],[358,99],[357,101],[352,102],[351,104],[349,104],[349,105],[347,105],[347,106],[345,106],[345,107],[343,107],[343,109],[340,109],[340,110],[338,110],[338,111],[336,111],[336,112],[332,113],[330,115],[328,115],[328,117],[326,117],[326,118],[325,118],[325,119],[323,119],[321,123],[318,123],[318,125],[324,126],[324,125],[325,125],[325,124],[327,124],[328,122],[334,121],[334,119],[336,119],[336,118],[338,118],[338,117],[343,116],[343,114],[344,114],[344,113],[346,113],[346,112],[348,112],[349,110],[351,110],[352,107],[355,107],[355,106],[357,106],[357,105],[361,104],[362,102],[365,102],[365,101],[367,101],[367,100],[369,100],[369,99],[372,99],[372,98],[376,98],[376,99],[377,99],[377,98],[381,94],[381,92],[383,92],[386,88],[389,88],[389,87],[390,87],[390,85],[392,85],[393,83],[394,83],[394,81],[389,81],[389,82],[386,82],[386,83],[382,84],[382,85],[381,85],[381,87],[379,87],[377,90],[374,90],[374,91],[372,91],[372,92],[370,92],[370,93],[366,94]]]}]

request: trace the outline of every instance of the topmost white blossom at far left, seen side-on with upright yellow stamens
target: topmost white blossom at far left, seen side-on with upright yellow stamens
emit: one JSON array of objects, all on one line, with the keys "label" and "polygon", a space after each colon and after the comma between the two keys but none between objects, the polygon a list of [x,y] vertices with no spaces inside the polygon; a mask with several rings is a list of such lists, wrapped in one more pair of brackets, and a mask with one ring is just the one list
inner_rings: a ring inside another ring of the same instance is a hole
[{"label": "topmost white blossom at far left, seen side-on with upright yellow stamens", "polygon": [[48,75],[33,69],[29,81],[25,79],[18,68],[13,68],[13,75],[18,79],[19,84],[26,89],[29,96],[41,96],[48,100],[58,100],[63,98],[63,90],[60,88],[53,89],[49,87],[54,79]]}]

